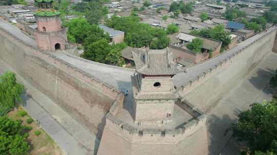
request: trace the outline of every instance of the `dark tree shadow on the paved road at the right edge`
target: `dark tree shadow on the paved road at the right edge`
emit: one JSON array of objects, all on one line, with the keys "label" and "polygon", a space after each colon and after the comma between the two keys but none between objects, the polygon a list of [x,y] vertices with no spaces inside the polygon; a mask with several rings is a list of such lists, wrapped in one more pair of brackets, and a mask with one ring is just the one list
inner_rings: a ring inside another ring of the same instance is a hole
[{"label": "dark tree shadow on the paved road at the right edge", "polygon": [[265,94],[274,94],[273,89],[265,89],[265,87],[267,86],[266,83],[269,83],[269,81],[264,80],[264,79],[270,79],[271,76],[273,75],[274,70],[266,68],[266,70],[264,69],[259,69],[257,71],[257,75],[255,77],[251,77],[251,79],[249,79],[249,82],[256,88],[259,90],[263,90],[263,93]]}]

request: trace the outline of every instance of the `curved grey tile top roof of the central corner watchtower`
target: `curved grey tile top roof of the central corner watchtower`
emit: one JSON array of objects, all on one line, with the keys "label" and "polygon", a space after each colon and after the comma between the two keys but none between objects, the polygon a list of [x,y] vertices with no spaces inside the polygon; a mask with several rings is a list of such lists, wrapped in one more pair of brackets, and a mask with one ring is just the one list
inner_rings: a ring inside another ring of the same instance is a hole
[{"label": "curved grey tile top roof of the central corner watchtower", "polygon": [[145,55],[146,65],[137,72],[144,75],[174,75],[184,72],[169,63],[168,49],[152,49]]}]

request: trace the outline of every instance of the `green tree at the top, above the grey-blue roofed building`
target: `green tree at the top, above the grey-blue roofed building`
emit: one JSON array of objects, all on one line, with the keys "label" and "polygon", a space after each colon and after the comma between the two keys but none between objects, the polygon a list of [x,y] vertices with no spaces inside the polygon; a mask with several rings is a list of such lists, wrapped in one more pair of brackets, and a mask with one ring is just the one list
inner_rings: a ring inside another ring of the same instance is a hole
[{"label": "green tree at the top, above the grey-blue roofed building", "polygon": [[85,17],[90,24],[99,24],[103,17],[109,13],[103,4],[92,1],[86,4]]}]

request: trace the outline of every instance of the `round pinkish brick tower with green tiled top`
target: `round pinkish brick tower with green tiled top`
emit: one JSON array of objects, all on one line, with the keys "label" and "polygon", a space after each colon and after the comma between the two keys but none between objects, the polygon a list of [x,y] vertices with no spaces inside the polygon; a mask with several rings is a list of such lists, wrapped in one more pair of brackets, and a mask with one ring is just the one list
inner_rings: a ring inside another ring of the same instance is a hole
[{"label": "round pinkish brick tower with green tiled top", "polygon": [[34,12],[37,28],[34,32],[38,48],[55,51],[65,49],[66,29],[62,27],[60,12],[53,9],[53,0],[35,0],[38,10]]}]

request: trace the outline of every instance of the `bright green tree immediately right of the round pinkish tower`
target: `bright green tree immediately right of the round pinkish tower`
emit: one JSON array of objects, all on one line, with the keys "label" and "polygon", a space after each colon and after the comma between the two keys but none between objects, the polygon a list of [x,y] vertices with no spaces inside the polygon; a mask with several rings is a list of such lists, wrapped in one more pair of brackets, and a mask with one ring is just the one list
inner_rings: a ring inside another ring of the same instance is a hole
[{"label": "bright green tree immediately right of the round pinkish tower", "polygon": [[68,22],[67,39],[72,42],[82,43],[88,37],[90,24],[85,18],[74,18]]}]

